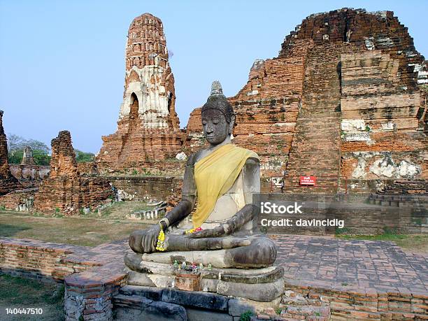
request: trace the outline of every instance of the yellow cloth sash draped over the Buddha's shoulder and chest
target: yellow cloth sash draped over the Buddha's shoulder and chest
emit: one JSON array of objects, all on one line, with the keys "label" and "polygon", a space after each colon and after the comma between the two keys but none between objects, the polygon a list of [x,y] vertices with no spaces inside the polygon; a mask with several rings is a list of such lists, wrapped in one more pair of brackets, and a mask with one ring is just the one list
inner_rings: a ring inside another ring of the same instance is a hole
[{"label": "yellow cloth sash draped over the Buddha's shoulder and chest", "polygon": [[227,144],[194,164],[194,180],[198,190],[198,205],[193,215],[194,228],[206,221],[217,199],[234,185],[249,157],[259,158],[252,150]]}]

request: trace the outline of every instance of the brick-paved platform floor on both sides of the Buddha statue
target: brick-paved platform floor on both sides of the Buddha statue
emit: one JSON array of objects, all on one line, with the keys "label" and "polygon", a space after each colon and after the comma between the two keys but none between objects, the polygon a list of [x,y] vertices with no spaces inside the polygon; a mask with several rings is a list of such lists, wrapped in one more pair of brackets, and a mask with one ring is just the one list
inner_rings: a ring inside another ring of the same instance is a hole
[{"label": "brick-paved platform floor on both sides of the Buddha statue", "polygon": [[[276,264],[283,266],[287,282],[371,287],[381,292],[428,292],[428,255],[404,252],[392,242],[301,235],[271,238],[278,244]],[[3,246],[13,243],[26,248],[62,250],[66,254],[64,262],[97,266],[96,270],[104,267],[106,273],[122,272],[124,252],[129,250],[126,239],[94,248],[19,238],[1,238],[0,241]],[[84,273],[92,274],[92,271]]]}]

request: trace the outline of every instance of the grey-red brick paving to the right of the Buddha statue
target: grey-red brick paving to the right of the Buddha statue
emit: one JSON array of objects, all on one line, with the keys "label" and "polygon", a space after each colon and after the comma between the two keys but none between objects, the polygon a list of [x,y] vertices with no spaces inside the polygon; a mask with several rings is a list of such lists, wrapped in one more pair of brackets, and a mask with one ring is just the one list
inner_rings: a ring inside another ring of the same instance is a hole
[{"label": "grey-red brick paving to the right of the Buddha statue", "polygon": [[273,238],[278,244],[276,264],[283,266],[286,283],[428,294],[428,256],[405,253],[392,242],[322,236]]}]

